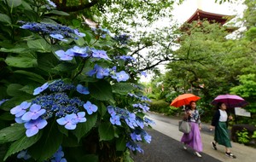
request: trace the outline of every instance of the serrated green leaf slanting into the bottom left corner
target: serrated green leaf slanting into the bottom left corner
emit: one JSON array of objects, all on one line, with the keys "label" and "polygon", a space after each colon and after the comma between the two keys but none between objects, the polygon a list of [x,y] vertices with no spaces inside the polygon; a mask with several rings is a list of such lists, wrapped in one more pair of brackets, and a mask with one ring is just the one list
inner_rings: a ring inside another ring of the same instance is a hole
[{"label": "serrated green leaf slanting into the bottom left corner", "polygon": [[5,154],[3,160],[7,159],[10,155],[12,155],[14,153],[18,153],[18,152],[22,151],[23,149],[31,147],[34,143],[38,142],[41,135],[42,135],[42,133],[39,132],[35,136],[31,136],[31,137],[23,136],[18,141],[13,142],[10,145],[8,152]]}]

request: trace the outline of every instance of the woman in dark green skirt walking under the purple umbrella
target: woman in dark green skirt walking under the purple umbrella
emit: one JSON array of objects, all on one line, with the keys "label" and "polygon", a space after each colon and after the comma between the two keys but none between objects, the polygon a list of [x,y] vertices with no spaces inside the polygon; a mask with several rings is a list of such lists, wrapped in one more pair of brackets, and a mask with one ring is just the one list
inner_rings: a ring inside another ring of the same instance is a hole
[{"label": "woman in dark green skirt walking under the purple umbrella", "polygon": [[226,112],[226,105],[224,102],[218,102],[217,104],[218,110],[214,114],[212,118],[212,124],[210,126],[210,130],[215,128],[214,132],[214,142],[212,142],[212,148],[217,150],[217,143],[220,145],[224,145],[225,154],[230,158],[236,159],[236,156],[230,153],[231,142],[228,131],[228,119],[233,119],[233,117],[228,115]]}]

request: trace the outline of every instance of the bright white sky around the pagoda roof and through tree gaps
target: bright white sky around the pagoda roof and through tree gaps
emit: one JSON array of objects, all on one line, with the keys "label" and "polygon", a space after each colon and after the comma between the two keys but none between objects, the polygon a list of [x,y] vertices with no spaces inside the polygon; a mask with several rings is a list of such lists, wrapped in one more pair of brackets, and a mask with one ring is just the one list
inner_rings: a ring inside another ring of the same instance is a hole
[{"label": "bright white sky around the pagoda roof and through tree gaps", "polygon": [[[215,0],[184,0],[181,5],[175,5],[173,9],[174,20],[177,20],[179,24],[183,24],[185,20],[195,13],[196,9],[201,9],[203,11],[215,13],[215,14],[227,14],[236,15],[241,14],[245,9],[241,5],[242,0],[237,0],[237,3],[215,3]],[[240,16],[241,17],[241,16]],[[169,22],[170,23],[170,22]],[[158,26],[170,26],[166,19],[160,20]],[[151,76],[148,75],[147,78],[142,77],[141,82],[149,82]]]}]

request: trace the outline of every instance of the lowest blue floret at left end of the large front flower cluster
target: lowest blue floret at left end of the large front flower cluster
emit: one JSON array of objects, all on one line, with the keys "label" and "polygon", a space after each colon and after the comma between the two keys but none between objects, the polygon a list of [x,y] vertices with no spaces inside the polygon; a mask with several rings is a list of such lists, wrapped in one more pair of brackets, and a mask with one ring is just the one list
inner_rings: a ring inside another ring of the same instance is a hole
[{"label": "lowest blue floret at left end of the large front flower cluster", "polygon": [[46,119],[42,119],[41,117],[36,120],[30,120],[29,122],[24,124],[26,128],[26,136],[30,137],[36,135],[38,131],[43,129],[46,125]]}]

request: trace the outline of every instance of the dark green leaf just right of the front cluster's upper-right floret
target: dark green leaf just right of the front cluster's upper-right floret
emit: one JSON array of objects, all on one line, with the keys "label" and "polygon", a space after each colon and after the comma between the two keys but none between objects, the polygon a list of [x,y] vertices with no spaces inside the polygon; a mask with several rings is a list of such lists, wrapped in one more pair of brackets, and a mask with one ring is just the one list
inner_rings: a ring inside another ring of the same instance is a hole
[{"label": "dark green leaf just right of the front cluster's upper-right floret", "polygon": [[96,83],[89,83],[88,89],[90,95],[100,101],[109,101],[113,99],[111,85],[106,80],[99,80]]}]

